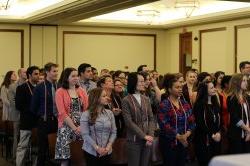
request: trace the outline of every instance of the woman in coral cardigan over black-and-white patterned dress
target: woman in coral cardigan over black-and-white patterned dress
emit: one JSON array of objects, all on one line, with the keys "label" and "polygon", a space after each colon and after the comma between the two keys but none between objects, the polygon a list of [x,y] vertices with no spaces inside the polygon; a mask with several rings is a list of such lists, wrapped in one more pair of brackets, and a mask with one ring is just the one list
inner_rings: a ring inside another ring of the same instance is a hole
[{"label": "woman in coral cardigan over black-and-white patterned dress", "polygon": [[58,111],[58,132],[55,159],[62,166],[69,165],[70,143],[81,140],[80,118],[88,105],[87,92],[78,85],[78,72],[74,68],[66,68],[61,76],[61,88],[56,91]]}]

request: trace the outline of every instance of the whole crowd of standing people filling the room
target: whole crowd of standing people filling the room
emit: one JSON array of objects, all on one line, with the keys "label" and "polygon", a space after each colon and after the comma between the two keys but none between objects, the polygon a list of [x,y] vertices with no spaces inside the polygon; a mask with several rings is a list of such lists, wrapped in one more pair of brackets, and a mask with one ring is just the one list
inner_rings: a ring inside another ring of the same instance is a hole
[{"label": "whole crowd of standing people filling the room", "polygon": [[[241,73],[198,72],[161,76],[141,65],[136,72],[83,63],[78,69],[47,63],[43,69],[8,71],[1,84],[2,121],[13,124],[13,159],[25,165],[37,128],[36,165],[53,157],[70,165],[71,143],[82,142],[87,166],[164,166],[250,152],[250,62]],[[157,154],[153,154],[159,151]],[[82,153],[79,152],[79,153]]]}]

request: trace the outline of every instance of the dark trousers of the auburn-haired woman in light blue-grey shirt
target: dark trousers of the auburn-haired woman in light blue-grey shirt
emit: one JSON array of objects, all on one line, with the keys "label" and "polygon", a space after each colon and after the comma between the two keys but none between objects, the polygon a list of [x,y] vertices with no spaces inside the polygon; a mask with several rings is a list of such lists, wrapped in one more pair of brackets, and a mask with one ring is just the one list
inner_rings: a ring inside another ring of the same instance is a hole
[{"label": "dark trousers of the auburn-haired woman in light blue-grey shirt", "polygon": [[87,166],[109,166],[111,155],[96,157],[84,151]]}]

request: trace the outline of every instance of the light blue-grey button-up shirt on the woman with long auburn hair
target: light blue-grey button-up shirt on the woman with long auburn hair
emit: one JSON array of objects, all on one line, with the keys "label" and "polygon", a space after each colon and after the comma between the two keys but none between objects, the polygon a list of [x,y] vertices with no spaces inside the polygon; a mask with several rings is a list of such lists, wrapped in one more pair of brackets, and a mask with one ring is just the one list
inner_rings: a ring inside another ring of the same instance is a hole
[{"label": "light blue-grey button-up shirt on the woman with long auburn hair", "polygon": [[[104,109],[99,113],[95,124],[89,122],[89,111],[81,117],[81,134],[84,140],[82,149],[91,155],[97,156],[95,146],[105,148],[108,143],[113,144],[116,138],[115,118],[112,111]],[[111,154],[112,150],[108,153]]]}]

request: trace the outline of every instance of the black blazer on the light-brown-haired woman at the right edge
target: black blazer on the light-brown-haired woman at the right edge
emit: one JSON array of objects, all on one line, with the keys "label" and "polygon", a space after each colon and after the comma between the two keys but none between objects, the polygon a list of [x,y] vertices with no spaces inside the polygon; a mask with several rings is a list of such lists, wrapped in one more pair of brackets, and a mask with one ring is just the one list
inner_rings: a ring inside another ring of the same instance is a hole
[{"label": "black blazer on the light-brown-haired woman at the right edge", "polygon": [[[249,103],[249,98],[247,98],[247,102]],[[232,140],[241,140],[242,129],[237,127],[236,124],[243,120],[246,123],[246,114],[245,111],[242,111],[242,106],[238,102],[238,99],[234,96],[228,96],[227,98],[227,109],[230,114],[230,123],[228,128],[228,137]],[[248,110],[249,111],[249,110]],[[249,113],[248,113],[249,116]],[[243,119],[242,119],[243,117]],[[249,119],[249,118],[248,118]]]}]

